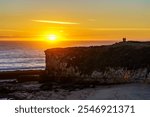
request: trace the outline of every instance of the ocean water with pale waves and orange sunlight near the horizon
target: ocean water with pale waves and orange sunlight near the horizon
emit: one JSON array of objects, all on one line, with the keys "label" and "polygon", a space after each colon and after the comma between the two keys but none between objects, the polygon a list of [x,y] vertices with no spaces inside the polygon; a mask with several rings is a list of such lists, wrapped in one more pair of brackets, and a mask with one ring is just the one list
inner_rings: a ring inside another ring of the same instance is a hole
[{"label": "ocean water with pale waves and orange sunlight near the horizon", "polygon": [[100,46],[114,41],[0,41],[0,71],[44,70],[45,53],[49,48]]}]

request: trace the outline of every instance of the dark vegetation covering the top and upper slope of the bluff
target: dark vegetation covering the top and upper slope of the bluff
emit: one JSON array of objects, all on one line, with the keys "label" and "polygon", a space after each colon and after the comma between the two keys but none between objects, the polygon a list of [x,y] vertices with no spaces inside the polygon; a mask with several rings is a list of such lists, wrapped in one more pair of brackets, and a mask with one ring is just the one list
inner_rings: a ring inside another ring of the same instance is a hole
[{"label": "dark vegetation covering the top and upper slope of the bluff", "polygon": [[[150,69],[150,42],[121,42],[110,46],[55,48],[46,51],[62,55],[60,62],[67,67],[76,66],[84,73],[103,71],[108,67]],[[63,56],[64,55],[64,56]]]}]

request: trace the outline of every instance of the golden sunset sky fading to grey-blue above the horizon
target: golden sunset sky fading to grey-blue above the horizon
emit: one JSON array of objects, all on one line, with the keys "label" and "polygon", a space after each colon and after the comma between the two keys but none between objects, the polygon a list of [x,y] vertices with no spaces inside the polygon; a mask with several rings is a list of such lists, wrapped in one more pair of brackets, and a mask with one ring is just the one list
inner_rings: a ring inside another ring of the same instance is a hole
[{"label": "golden sunset sky fading to grey-blue above the horizon", "polygon": [[150,40],[150,0],[0,0],[0,40]]}]

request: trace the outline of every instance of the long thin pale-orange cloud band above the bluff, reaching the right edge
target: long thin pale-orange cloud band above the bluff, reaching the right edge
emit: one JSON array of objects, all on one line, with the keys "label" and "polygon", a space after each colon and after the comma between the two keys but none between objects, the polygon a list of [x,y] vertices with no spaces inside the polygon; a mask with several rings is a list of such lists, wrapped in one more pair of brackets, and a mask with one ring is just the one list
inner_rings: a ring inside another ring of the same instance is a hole
[{"label": "long thin pale-orange cloud band above the bluff, reaching the right edge", "polygon": [[97,31],[150,31],[150,28],[90,28]]}]

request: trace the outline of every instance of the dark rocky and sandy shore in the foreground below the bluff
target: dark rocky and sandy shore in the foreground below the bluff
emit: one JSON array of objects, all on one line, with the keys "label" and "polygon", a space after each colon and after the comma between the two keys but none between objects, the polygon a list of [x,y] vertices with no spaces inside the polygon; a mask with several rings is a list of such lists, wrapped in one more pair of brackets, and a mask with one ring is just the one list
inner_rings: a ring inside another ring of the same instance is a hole
[{"label": "dark rocky and sandy shore in the foreground below the bluff", "polygon": [[45,73],[46,70],[0,72],[0,100],[150,99],[149,83],[97,84],[92,81],[56,82],[50,80],[41,82],[41,79],[46,77],[40,78],[40,76]]}]

